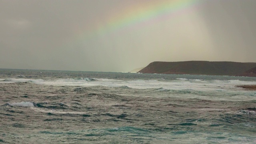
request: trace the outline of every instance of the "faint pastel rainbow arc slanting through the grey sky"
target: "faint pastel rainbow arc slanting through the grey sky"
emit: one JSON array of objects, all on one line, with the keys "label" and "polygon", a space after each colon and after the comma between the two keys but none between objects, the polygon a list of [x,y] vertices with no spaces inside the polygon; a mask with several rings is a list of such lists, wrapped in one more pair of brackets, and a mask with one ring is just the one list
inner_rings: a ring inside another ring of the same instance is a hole
[{"label": "faint pastel rainbow arc slanting through the grey sky", "polygon": [[76,40],[87,40],[97,35],[104,35],[122,28],[141,23],[150,23],[151,20],[178,15],[184,10],[200,5],[206,0],[152,0],[142,4],[133,5],[123,12],[113,15],[108,21],[91,30],[80,31]]}]

